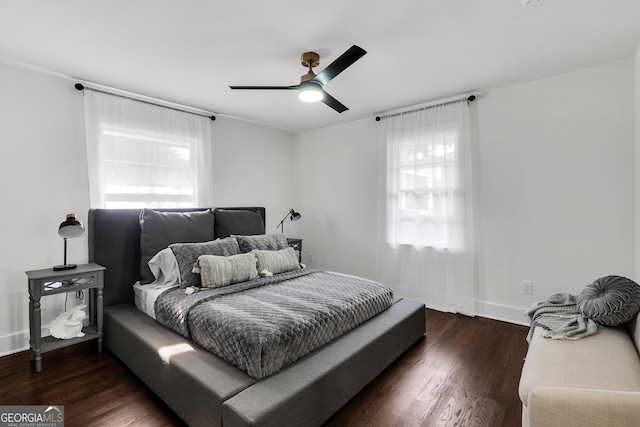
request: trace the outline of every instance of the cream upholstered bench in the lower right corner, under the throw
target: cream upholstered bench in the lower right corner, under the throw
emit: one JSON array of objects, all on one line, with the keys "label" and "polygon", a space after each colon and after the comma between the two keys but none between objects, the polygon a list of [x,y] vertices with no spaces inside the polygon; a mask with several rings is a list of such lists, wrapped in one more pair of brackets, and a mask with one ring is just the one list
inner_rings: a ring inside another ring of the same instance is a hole
[{"label": "cream upholstered bench in the lower right corner, under the throw", "polygon": [[578,340],[537,327],[520,378],[524,427],[640,426],[640,320]]}]

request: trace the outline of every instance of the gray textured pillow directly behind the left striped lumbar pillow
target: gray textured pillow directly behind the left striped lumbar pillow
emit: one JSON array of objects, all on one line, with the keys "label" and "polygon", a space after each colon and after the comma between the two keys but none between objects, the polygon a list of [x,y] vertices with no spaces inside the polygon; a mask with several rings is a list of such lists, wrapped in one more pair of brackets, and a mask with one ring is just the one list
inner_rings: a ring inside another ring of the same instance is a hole
[{"label": "gray textured pillow directly behind the left striped lumbar pillow", "polygon": [[174,243],[169,245],[180,269],[180,287],[200,286],[200,276],[194,274],[193,264],[200,255],[230,256],[240,253],[234,237],[204,243]]}]

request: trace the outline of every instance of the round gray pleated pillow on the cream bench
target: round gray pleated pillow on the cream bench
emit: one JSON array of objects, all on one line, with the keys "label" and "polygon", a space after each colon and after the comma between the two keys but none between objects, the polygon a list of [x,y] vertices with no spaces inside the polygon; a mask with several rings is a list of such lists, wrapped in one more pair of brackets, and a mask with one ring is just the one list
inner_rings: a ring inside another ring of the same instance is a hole
[{"label": "round gray pleated pillow on the cream bench", "polygon": [[580,292],[577,303],[597,324],[620,325],[640,311],[640,285],[622,276],[601,277]]}]

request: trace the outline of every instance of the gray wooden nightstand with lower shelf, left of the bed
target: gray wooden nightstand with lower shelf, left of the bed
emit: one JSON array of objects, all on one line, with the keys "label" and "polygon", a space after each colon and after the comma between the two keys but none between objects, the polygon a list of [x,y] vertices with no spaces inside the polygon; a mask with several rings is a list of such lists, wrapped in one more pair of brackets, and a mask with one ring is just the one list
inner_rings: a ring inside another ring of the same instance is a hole
[{"label": "gray wooden nightstand with lower shelf, left of the bed", "polygon": [[[97,340],[102,352],[102,289],[105,268],[98,264],[79,265],[72,270],[54,271],[52,268],[27,271],[29,279],[29,347],[36,372],[42,371],[42,356],[46,351],[84,341]],[[89,325],[82,328],[83,337],[57,339],[41,337],[40,298],[65,292],[89,290]]]}]

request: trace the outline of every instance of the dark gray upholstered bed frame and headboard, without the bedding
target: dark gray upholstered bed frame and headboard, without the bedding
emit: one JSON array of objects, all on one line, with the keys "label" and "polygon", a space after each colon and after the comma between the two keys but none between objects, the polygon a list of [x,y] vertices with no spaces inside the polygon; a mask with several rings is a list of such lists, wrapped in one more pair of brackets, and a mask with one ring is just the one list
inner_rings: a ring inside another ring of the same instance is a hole
[{"label": "dark gray upholstered bed frame and headboard, without the bedding", "polygon": [[202,216],[196,213],[210,212],[214,238],[224,238],[264,234],[265,209],[159,212],[179,218],[178,226],[141,223],[140,209],[91,209],[89,261],[106,267],[105,345],[189,425],[321,425],[425,333],[424,304],[395,297],[379,314],[292,364],[264,378],[250,376],[138,310],[133,285],[149,273],[141,265],[157,252],[150,240],[159,246],[205,241],[191,235],[202,228],[190,222]]}]

